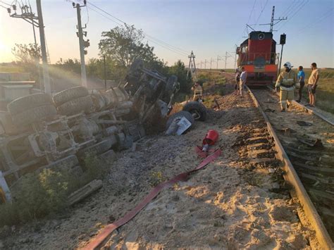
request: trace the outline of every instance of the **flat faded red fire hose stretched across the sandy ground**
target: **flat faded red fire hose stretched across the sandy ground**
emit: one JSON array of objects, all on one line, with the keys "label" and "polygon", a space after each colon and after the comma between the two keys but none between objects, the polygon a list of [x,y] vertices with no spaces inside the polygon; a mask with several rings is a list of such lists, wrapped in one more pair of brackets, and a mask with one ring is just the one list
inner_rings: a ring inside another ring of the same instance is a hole
[{"label": "flat faded red fire hose stretched across the sandy ground", "polygon": [[[216,137],[216,139],[218,139],[218,136]],[[187,180],[187,177],[191,173],[193,173],[197,170],[200,170],[201,168],[204,168],[206,165],[211,163],[211,161],[214,161],[220,155],[221,155],[221,149],[217,149],[216,151],[214,151],[214,154],[211,154],[211,155],[207,156],[202,161],[202,163],[200,163],[197,166],[197,168],[194,168],[193,170],[187,171],[185,173],[180,173],[179,175],[176,175],[175,177],[173,177],[173,179],[168,180],[166,182],[163,182],[163,183],[157,185],[156,187],[154,187],[154,189],[152,189],[151,192],[149,192],[149,194],[147,194],[147,196],[144,198],[144,200],[142,200],[142,202],[140,202],[140,204],[138,204],[135,208],[133,208],[132,211],[128,212],[127,214],[124,215],[123,218],[120,218],[119,220],[116,220],[114,223],[106,225],[106,227],[104,227],[104,229],[99,233],[99,235],[97,235],[97,237],[95,237],[92,240],[92,242],[89,242],[89,244],[87,244],[87,246],[85,246],[83,249],[87,249],[87,250],[89,249],[90,250],[90,249],[99,248],[99,246],[101,246],[101,244],[104,243],[106,238],[109,237],[109,235],[111,235],[111,232],[116,230],[118,227],[124,225],[125,223],[128,223],[129,220],[134,218],[135,215],[137,215],[137,213],[139,213],[142,210],[142,208],[147,206],[147,204],[149,204],[149,202],[152,199],[154,199],[159,194],[159,192],[161,192],[162,189],[164,189],[165,187],[170,187],[171,185],[175,184],[176,182]]]}]

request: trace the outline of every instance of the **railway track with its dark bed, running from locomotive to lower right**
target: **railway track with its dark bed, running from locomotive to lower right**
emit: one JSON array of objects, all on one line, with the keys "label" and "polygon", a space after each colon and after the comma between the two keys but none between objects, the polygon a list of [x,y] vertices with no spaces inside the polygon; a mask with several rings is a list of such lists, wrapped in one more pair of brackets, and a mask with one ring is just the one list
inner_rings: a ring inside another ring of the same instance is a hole
[{"label": "railway track with its dark bed, running from locomotive to lower right", "polygon": [[299,189],[295,190],[295,195],[307,215],[313,217],[311,223],[321,232],[318,233],[319,241],[328,249],[333,248],[333,126],[313,113],[305,113],[300,106],[291,106],[289,112],[281,113],[278,96],[268,89],[249,89],[249,92],[264,111],[276,140],[282,144],[283,158],[288,157],[285,159],[285,165],[290,165],[287,182]]}]

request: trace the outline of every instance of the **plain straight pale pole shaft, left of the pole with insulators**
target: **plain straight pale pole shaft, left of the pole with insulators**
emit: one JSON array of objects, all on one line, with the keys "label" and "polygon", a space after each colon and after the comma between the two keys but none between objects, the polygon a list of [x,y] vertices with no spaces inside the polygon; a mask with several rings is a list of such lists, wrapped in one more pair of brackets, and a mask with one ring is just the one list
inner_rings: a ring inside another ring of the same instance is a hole
[{"label": "plain straight pale pole shaft, left of the pole with insulators", "polygon": [[36,0],[36,6],[37,6],[38,25],[39,25],[39,39],[41,40],[44,92],[51,94],[49,66],[47,64],[47,47],[45,46],[45,34],[44,34],[41,0]]}]

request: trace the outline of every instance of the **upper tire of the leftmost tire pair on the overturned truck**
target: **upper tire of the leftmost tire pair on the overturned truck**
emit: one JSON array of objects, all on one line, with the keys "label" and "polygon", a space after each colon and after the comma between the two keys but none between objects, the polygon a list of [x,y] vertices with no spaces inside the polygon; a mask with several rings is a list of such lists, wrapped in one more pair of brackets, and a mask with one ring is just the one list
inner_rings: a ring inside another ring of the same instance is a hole
[{"label": "upper tire of the leftmost tire pair on the overturned truck", "polygon": [[37,93],[23,96],[11,101],[7,105],[7,109],[11,115],[25,112],[27,109],[36,108],[39,106],[52,105],[52,99],[49,94]]}]

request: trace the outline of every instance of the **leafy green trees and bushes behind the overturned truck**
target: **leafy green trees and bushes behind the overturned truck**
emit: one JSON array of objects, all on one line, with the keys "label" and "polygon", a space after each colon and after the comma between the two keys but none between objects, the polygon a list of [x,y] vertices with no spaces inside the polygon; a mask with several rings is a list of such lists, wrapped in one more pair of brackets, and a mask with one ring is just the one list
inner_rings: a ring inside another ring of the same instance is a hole
[{"label": "leafy green trees and bushes behind the overturned truck", "polygon": [[[192,86],[192,80],[187,80],[187,68],[178,60],[174,65],[168,66],[163,60],[154,54],[154,46],[144,43],[142,30],[137,30],[134,25],[124,25],[102,32],[99,42],[99,58],[90,58],[87,65],[87,77],[104,79],[104,59],[106,61],[106,79],[122,82],[128,68],[136,58],[142,58],[146,68],[154,69],[159,73],[170,76],[177,75],[180,82],[180,92],[188,93]],[[35,44],[16,44],[12,49],[16,56],[16,63],[27,72],[39,84],[39,62],[41,61],[40,47]],[[80,75],[80,61],[76,58],[60,58],[54,67]]]}]

